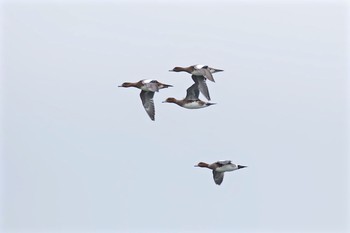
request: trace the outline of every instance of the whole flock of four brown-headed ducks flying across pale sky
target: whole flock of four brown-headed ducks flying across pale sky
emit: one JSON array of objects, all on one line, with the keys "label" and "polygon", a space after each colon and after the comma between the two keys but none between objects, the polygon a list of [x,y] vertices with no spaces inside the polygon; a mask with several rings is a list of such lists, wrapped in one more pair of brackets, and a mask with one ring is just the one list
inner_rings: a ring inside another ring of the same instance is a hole
[{"label": "whole flock of four brown-headed ducks flying across pale sky", "polygon": [[[215,103],[206,102],[199,99],[199,93],[201,93],[208,101],[210,101],[210,95],[206,80],[215,82],[213,73],[222,72],[223,70],[215,69],[206,65],[193,65],[188,67],[175,67],[172,72],[187,72],[191,74],[194,84],[187,88],[186,97],[182,100],[175,99],[173,97],[167,98],[163,103],[174,103],[180,107],[187,109],[199,109],[205,108]],[[172,85],[164,84],[153,79],[143,79],[138,82],[124,82],[119,87],[135,87],[141,89],[140,98],[142,105],[146,110],[148,116],[152,121],[155,120],[155,108],[153,96],[155,92],[160,89],[172,87]],[[224,179],[224,172],[235,171],[247,166],[236,165],[231,163],[230,160],[219,160],[215,163],[208,164],[200,162],[195,167],[209,168],[212,170],[213,179],[215,184],[220,185]]]}]

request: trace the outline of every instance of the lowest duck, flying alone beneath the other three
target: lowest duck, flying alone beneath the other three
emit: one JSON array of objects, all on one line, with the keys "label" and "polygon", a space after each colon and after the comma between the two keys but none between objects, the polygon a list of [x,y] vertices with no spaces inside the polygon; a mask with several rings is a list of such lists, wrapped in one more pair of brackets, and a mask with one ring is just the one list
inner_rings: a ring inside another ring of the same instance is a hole
[{"label": "lowest duck, flying alone beneath the other three", "polygon": [[197,165],[195,165],[195,167],[205,167],[211,169],[213,171],[213,178],[215,184],[220,185],[224,180],[225,172],[235,171],[241,168],[245,168],[247,166],[233,164],[230,160],[219,160],[212,164],[200,162]]}]

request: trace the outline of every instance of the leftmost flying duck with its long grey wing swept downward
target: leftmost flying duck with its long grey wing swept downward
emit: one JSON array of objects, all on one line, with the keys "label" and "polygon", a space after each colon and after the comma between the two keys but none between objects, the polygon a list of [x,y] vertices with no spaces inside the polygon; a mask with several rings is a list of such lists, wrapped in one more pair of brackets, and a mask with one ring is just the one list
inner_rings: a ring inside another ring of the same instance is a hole
[{"label": "leftmost flying duck with its long grey wing swept downward", "polygon": [[157,80],[153,79],[143,79],[138,82],[125,82],[119,87],[135,87],[141,89],[140,98],[142,105],[146,110],[148,116],[152,121],[155,120],[155,108],[153,96],[155,92],[158,92],[160,89],[172,87],[172,85],[160,83]]}]

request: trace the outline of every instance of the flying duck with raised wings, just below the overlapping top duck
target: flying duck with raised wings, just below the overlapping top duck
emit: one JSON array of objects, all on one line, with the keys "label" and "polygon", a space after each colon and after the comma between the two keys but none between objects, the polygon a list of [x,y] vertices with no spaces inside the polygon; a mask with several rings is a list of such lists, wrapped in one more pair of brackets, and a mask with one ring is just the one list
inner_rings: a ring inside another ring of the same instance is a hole
[{"label": "flying duck with raised wings, just below the overlapping top duck", "polygon": [[187,108],[187,109],[199,109],[199,108],[205,108],[210,105],[213,105],[215,103],[209,103],[204,102],[200,99],[198,99],[199,96],[199,89],[198,89],[198,83],[194,83],[192,86],[190,86],[187,89],[187,95],[182,100],[177,100],[175,98],[167,98],[163,103],[174,103],[179,105],[180,107]]}]

